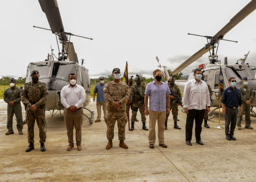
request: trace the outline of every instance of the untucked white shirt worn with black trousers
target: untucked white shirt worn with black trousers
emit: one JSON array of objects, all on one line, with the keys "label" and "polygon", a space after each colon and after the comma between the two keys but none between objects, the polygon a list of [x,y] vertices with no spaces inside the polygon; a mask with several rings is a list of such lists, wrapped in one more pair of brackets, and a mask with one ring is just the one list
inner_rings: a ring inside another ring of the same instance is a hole
[{"label": "untucked white shirt worn with black trousers", "polygon": [[198,83],[195,78],[189,80],[183,93],[184,108],[202,110],[210,106],[210,93],[207,83],[200,80]]}]

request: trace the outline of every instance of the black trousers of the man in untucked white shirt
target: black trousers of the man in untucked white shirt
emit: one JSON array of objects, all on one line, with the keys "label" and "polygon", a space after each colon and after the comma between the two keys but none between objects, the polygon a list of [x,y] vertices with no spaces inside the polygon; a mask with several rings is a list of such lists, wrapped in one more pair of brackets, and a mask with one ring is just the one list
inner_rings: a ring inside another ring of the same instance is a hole
[{"label": "black trousers of the man in untucked white shirt", "polygon": [[192,139],[192,130],[193,123],[195,120],[195,140],[201,140],[201,131],[202,131],[202,123],[204,119],[204,110],[190,109],[189,114],[187,114],[186,121],[186,141],[191,141]]}]

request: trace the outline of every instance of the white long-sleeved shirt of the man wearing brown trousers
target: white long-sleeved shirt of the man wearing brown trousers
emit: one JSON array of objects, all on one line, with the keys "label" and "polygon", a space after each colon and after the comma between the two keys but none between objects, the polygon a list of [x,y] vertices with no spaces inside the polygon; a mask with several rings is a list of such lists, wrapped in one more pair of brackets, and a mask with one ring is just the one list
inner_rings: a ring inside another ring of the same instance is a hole
[{"label": "white long-sleeved shirt of the man wearing brown trousers", "polygon": [[61,90],[61,104],[65,108],[69,108],[70,106],[76,106],[76,108],[80,108],[84,105],[85,102],[85,89],[80,85],[75,85],[71,87],[70,85],[66,85]]}]

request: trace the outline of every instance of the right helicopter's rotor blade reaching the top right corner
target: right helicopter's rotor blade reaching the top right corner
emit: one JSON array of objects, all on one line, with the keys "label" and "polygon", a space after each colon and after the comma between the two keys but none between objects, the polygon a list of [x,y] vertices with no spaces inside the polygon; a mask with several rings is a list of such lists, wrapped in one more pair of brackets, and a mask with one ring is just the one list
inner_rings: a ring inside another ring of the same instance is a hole
[{"label": "right helicopter's rotor blade reaching the top right corner", "polygon": [[218,42],[223,36],[228,33],[232,28],[234,28],[239,22],[241,22],[245,17],[252,13],[256,9],[256,0],[249,2],[241,11],[239,11],[230,21],[217,33],[213,36],[213,43]]}]

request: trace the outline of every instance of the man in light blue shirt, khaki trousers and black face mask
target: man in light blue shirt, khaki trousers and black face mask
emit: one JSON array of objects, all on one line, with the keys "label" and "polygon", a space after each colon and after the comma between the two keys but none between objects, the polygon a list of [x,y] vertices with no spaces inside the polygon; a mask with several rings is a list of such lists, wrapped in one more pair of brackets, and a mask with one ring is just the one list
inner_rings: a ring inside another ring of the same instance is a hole
[{"label": "man in light blue shirt, khaki trousers and black face mask", "polygon": [[[170,113],[170,96],[171,93],[167,83],[162,82],[162,72],[161,70],[154,70],[153,72],[154,81],[148,83],[145,90],[145,114],[149,115],[149,132],[148,140],[150,148],[154,148],[154,143],[156,141],[156,120],[158,125],[158,141],[159,146],[167,148],[165,144],[165,115]],[[150,105],[148,109],[148,97],[150,97]],[[167,106],[166,106],[167,104]]]}]

